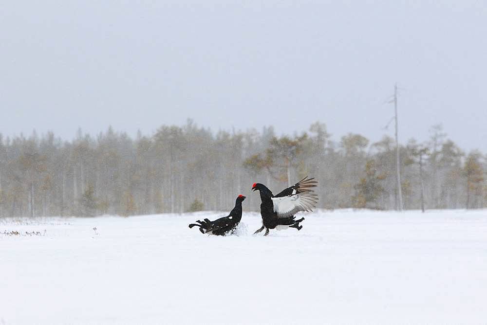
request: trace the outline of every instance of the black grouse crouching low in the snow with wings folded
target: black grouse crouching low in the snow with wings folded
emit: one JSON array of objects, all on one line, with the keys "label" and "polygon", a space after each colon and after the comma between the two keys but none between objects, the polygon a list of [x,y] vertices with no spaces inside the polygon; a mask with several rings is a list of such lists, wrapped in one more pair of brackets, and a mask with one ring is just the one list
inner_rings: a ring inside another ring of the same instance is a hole
[{"label": "black grouse crouching low in the snow with wings folded", "polygon": [[245,199],[243,195],[239,195],[235,201],[235,207],[226,217],[210,221],[204,219],[203,221],[196,220],[197,223],[191,223],[189,228],[194,226],[200,227],[200,232],[208,235],[230,235],[235,232],[240,220],[242,219],[242,201]]}]

